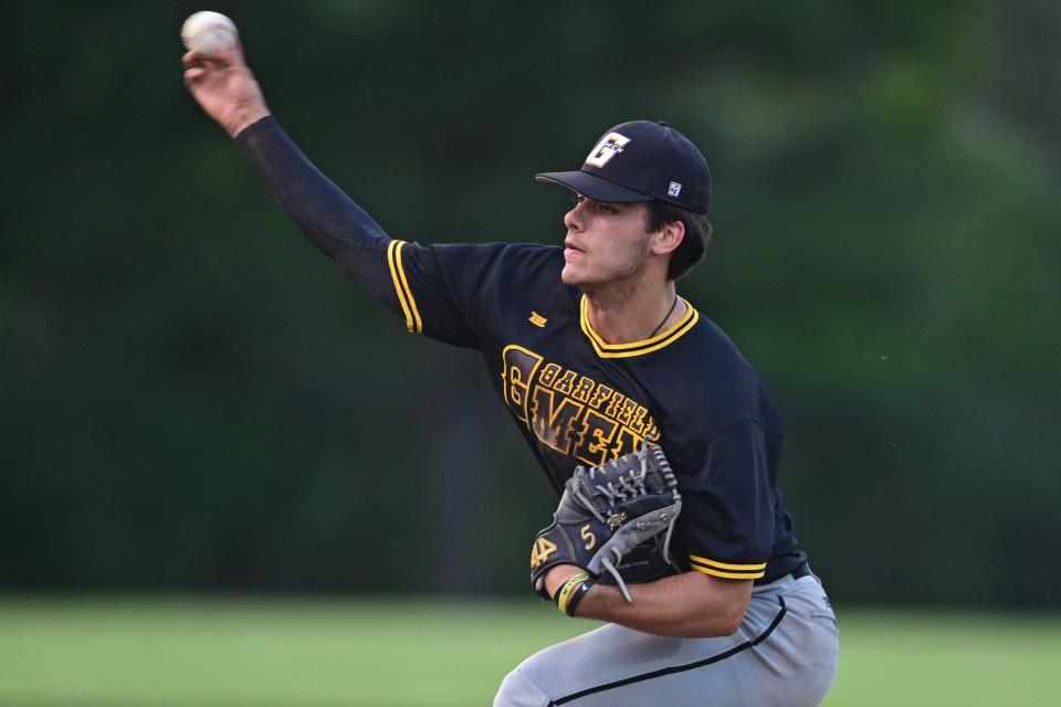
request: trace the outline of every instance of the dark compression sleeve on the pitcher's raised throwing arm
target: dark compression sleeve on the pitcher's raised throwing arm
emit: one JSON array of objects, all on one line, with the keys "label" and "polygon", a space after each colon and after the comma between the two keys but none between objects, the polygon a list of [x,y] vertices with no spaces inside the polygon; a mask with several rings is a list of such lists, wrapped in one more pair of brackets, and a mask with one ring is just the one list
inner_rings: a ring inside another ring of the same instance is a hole
[{"label": "dark compression sleeve on the pitcher's raised throwing arm", "polygon": [[306,238],[376,299],[396,309],[387,266],[390,238],[379,224],[314,167],[273,116],[245,128],[235,141]]}]

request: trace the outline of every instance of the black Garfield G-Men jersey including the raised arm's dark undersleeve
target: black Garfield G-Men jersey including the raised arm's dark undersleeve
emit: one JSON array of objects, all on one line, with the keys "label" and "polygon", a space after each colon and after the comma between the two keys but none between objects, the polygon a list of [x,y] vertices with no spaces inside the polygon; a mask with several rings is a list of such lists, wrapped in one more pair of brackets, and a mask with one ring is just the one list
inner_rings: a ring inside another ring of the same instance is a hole
[{"label": "black Garfield G-Men jersey including the raised arm's dark undersleeve", "polygon": [[660,444],[682,494],[672,555],[685,570],[770,582],[807,560],[777,489],[781,431],[766,384],[690,303],[674,326],[610,345],[563,250],[391,240],[266,117],[238,144],[306,236],[422,333],[482,352],[557,492],[578,465]]}]

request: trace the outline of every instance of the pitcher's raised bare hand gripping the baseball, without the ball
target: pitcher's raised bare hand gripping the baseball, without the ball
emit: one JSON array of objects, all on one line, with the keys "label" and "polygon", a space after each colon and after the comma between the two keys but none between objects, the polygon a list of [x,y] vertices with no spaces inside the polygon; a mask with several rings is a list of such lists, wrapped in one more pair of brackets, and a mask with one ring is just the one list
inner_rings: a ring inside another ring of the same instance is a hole
[{"label": "pitcher's raised bare hand gripping the baseball, without the ball", "polygon": [[210,54],[192,50],[181,63],[188,91],[231,137],[270,114],[239,42]]}]

